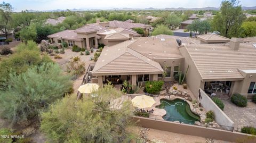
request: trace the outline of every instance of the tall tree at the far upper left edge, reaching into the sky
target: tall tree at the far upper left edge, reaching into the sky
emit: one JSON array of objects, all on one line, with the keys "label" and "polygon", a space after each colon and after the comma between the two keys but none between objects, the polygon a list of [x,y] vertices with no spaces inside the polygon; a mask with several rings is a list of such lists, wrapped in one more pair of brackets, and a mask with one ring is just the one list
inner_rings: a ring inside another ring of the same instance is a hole
[{"label": "tall tree at the far upper left edge, reaching into the sky", "polygon": [[7,39],[8,33],[11,30],[11,13],[13,7],[9,3],[3,2],[0,4],[0,30],[5,33],[5,38]]}]

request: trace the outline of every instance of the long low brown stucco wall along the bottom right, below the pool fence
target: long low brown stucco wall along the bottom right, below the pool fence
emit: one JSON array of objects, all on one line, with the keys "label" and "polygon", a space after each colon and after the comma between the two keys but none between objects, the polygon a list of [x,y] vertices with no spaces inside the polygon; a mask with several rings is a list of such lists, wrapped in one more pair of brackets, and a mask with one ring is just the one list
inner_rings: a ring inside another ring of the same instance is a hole
[{"label": "long low brown stucco wall along the bottom right, below the pool fence", "polygon": [[180,124],[169,121],[161,121],[155,119],[149,119],[145,117],[134,116],[134,121],[141,127],[188,134],[191,136],[199,136],[204,138],[211,138],[217,140],[224,140],[230,142],[243,142],[243,143],[255,143],[256,137],[250,134],[231,132],[213,128],[199,127],[189,124]]}]

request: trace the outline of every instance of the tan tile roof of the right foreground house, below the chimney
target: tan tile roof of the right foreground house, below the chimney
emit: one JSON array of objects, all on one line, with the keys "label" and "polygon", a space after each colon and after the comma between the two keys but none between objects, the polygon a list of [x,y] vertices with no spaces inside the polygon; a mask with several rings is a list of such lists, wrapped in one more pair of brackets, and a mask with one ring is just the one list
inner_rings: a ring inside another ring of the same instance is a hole
[{"label": "tan tile roof of the right foreground house, below the chimney", "polygon": [[252,43],[241,43],[238,51],[229,44],[185,45],[202,80],[242,80],[241,70],[256,69],[256,47]]}]

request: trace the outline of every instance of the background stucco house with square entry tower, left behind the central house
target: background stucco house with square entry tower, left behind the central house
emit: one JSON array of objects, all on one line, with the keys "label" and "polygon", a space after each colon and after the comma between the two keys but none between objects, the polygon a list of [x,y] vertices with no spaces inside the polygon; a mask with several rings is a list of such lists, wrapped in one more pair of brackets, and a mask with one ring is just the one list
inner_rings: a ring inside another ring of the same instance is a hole
[{"label": "background stucco house with square entry tower, left behind the central house", "polygon": [[103,26],[100,23],[86,24],[82,28],[61,31],[47,37],[50,38],[51,43],[62,43],[62,41],[66,41],[70,47],[77,45],[89,50],[90,48],[98,48],[99,43],[115,45],[132,37],[139,36],[132,29],[109,29],[109,26],[104,22]]}]

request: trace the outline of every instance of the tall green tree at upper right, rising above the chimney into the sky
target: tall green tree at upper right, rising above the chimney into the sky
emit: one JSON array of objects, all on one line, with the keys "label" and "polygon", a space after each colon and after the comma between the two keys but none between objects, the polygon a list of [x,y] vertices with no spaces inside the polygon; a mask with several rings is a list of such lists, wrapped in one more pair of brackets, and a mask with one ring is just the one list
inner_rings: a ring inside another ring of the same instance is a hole
[{"label": "tall green tree at upper right, rising above the chimney into the sky", "polygon": [[222,36],[231,38],[238,36],[238,30],[241,27],[245,15],[242,6],[237,0],[222,1],[220,13],[214,16],[212,21],[213,30],[220,31]]}]

